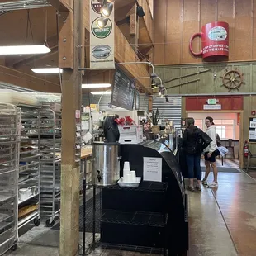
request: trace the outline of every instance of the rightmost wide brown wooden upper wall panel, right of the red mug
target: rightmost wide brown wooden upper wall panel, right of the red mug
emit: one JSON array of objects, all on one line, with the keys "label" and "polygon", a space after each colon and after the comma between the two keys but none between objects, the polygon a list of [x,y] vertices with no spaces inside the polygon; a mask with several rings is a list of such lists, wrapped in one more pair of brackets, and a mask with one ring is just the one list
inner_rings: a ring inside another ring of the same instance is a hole
[{"label": "rightmost wide brown wooden upper wall panel, right of the red mug", "polygon": [[251,7],[251,0],[235,0],[234,60],[252,58]]}]

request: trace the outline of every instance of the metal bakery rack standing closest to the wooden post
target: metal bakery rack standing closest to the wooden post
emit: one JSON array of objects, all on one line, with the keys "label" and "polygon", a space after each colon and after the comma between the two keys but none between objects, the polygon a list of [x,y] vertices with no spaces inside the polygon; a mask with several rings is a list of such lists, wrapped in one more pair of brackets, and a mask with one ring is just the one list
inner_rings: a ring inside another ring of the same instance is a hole
[{"label": "metal bakery rack standing closest to the wooden post", "polygon": [[55,225],[60,213],[61,112],[43,104],[40,111],[41,215],[46,225]]}]

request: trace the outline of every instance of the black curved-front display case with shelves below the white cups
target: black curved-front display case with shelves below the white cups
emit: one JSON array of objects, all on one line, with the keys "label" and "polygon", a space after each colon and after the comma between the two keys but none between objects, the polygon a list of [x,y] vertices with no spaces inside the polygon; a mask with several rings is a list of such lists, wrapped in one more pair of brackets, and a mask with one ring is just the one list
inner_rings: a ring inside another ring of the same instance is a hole
[{"label": "black curved-front display case with shelves below the white cups", "polygon": [[[187,194],[183,176],[171,151],[154,140],[121,145],[123,164],[142,177],[139,187],[102,187],[101,242],[162,249],[164,255],[188,250]],[[145,181],[144,157],[162,159],[162,182]]]}]

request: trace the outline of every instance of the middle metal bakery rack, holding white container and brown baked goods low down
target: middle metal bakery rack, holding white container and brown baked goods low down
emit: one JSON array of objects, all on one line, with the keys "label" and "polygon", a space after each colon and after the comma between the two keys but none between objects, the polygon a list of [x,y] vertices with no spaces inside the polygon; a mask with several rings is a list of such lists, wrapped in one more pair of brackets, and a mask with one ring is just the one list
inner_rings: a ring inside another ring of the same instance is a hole
[{"label": "middle metal bakery rack, holding white container and brown baked goods low down", "polygon": [[40,108],[21,108],[18,228],[34,221],[40,225]]}]

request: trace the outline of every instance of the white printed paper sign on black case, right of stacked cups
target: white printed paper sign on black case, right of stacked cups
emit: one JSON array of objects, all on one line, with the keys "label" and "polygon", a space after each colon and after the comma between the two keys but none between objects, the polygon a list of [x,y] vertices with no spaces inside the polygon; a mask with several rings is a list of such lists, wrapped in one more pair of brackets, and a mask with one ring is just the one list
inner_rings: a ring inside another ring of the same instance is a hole
[{"label": "white printed paper sign on black case, right of stacked cups", "polygon": [[161,158],[143,158],[143,180],[162,182]]}]

